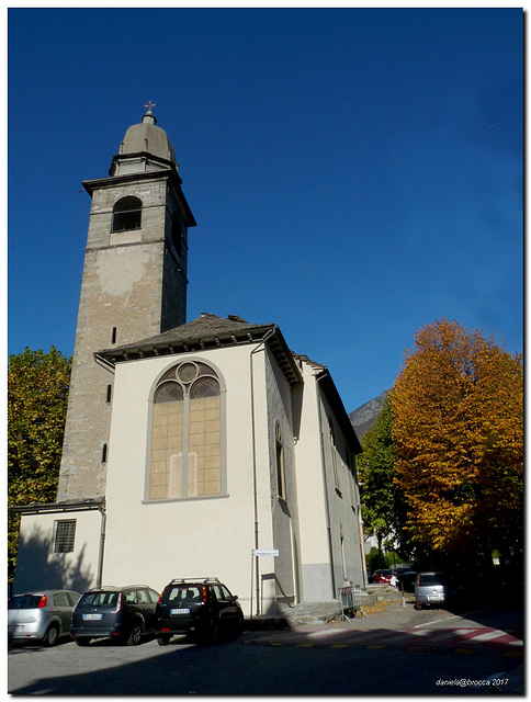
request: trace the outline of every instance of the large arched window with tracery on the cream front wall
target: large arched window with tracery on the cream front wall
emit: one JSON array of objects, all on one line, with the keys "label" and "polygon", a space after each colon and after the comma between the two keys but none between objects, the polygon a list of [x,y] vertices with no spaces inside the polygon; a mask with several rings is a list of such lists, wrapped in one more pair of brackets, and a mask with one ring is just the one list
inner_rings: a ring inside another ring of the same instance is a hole
[{"label": "large arched window with tracery on the cream front wall", "polygon": [[149,499],[224,491],[221,399],[219,380],[205,363],[184,361],[160,378],[152,400]]}]

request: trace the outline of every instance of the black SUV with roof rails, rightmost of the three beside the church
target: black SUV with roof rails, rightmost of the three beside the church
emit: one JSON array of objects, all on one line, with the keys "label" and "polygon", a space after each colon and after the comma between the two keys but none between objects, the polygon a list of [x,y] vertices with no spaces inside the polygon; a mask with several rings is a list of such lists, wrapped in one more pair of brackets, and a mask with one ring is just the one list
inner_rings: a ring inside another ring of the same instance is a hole
[{"label": "black SUV with roof rails, rightmost of the three beside the church", "polygon": [[169,643],[173,634],[215,643],[222,633],[240,633],[244,612],[238,596],[217,578],[181,578],[162,590],[157,604],[157,641]]}]

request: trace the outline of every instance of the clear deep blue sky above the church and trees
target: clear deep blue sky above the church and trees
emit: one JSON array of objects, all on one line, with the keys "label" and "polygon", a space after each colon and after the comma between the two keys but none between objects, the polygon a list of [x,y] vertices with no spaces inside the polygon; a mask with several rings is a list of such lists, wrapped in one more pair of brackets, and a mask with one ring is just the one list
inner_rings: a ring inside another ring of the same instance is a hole
[{"label": "clear deep blue sky above the church and trees", "polygon": [[276,322],[347,411],[445,316],[522,351],[519,9],[11,9],[8,353],[74,351],[90,199],[148,100],[188,319]]}]

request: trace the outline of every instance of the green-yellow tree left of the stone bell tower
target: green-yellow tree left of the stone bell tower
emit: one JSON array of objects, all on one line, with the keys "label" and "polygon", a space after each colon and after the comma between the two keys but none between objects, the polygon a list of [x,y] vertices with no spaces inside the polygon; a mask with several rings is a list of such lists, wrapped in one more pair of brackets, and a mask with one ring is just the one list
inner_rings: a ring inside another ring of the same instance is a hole
[{"label": "green-yellow tree left of the stone bell tower", "polygon": [[[71,359],[48,353],[11,355],[8,367],[8,507],[53,502],[57,492]],[[8,576],[16,562],[20,519],[9,516]]]}]

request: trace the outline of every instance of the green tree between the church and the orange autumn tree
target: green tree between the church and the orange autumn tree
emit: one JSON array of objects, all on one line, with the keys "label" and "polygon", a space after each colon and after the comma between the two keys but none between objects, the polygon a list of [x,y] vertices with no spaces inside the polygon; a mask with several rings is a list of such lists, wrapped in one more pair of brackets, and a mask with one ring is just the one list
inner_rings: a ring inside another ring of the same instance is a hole
[{"label": "green tree between the church and the orange autumn tree", "polygon": [[404,500],[395,477],[395,450],[392,435],[391,403],[387,397],[374,426],[361,440],[362,453],[357,457],[363,529],[374,534],[379,552],[396,542],[407,552],[403,539]]}]

